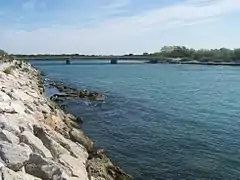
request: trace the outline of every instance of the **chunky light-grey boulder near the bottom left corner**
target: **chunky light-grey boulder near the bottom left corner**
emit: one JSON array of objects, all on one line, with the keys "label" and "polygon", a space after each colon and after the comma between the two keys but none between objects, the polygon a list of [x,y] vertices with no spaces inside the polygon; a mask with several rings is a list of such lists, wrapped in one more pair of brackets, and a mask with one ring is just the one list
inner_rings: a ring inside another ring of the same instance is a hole
[{"label": "chunky light-grey boulder near the bottom left corner", "polygon": [[25,144],[0,142],[0,156],[6,166],[14,171],[20,170],[29,160],[32,150]]}]

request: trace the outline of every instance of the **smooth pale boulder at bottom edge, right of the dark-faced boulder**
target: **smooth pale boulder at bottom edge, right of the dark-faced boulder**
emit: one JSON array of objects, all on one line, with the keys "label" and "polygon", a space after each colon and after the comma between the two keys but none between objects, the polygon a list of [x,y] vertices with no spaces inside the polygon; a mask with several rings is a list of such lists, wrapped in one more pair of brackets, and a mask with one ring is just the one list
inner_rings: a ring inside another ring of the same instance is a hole
[{"label": "smooth pale boulder at bottom edge, right of the dark-faced boulder", "polygon": [[79,159],[69,154],[61,154],[59,162],[71,170],[72,176],[81,177],[82,180],[88,180],[86,167]]}]

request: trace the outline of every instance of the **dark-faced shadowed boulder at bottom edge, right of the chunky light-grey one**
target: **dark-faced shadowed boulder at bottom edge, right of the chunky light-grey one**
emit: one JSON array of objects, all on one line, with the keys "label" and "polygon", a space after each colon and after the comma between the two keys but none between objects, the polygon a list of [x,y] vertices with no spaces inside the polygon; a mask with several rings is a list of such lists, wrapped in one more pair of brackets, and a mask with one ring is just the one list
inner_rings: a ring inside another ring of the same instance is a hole
[{"label": "dark-faced shadowed boulder at bottom edge, right of the chunky light-grey one", "polygon": [[31,154],[25,166],[27,173],[44,180],[68,180],[71,172],[49,158]]}]

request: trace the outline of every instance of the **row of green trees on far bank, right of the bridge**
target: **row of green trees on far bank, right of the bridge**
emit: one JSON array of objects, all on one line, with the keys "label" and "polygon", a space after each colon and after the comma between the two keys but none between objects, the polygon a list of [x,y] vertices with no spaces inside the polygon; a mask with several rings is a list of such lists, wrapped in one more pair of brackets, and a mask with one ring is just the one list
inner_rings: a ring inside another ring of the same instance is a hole
[{"label": "row of green trees on far bank, right of the bridge", "polygon": [[164,46],[159,52],[143,53],[144,56],[157,56],[159,58],[181,58],[182,60],[197,61],[240,61],[240,49],[189,49],[185,46]]}]

